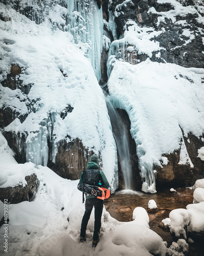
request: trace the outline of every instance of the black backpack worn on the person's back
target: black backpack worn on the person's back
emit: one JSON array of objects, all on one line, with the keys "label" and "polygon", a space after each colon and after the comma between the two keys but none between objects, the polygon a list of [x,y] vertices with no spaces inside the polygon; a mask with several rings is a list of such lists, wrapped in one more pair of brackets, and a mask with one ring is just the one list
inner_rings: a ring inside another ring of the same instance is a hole
[{"label": "black backpack worn on the person's back", "polygon": [[[83,172],[83,183],[101,187],[101,176],[99,169],[85,169]],[[84,192],[83,192],[84,203]]]}]

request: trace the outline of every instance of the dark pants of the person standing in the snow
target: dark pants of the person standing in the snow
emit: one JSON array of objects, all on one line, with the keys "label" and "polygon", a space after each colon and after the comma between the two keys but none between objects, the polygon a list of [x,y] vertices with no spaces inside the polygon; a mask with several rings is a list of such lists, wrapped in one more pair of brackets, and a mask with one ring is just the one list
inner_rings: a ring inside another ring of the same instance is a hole
[{"label": "dark pants of the person standing in the snow", "polygon": [[100,199],[97,199],[97,198],[86,199],[85,212],[84,212],[84,216],[83,216],[83,219],[82,219],[80,237],[83,237],[83,238],[86,237],[86,227],[87,227],[87,224],[88,224],[93,206],[95,208],[95,211],[94,211],[95,222],[94,222],[93,240],[97,241],[98,240],[98,235],[100,233],[101,215],[102,215],[103,206],[104,206],[104,200],[100,200]]}]

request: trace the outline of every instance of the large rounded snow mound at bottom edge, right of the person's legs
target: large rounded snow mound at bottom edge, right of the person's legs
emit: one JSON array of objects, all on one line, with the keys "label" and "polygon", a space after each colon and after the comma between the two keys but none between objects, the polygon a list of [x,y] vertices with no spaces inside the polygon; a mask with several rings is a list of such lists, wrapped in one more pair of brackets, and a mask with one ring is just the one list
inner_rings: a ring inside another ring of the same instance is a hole
[{"label": "large rounded snow mound at bottom edge, right of the person's legs", "polygon": [[166,245],[157,233],[141,225],[117,226],[103,244],[96,248],[100,255],[166,255]]}]

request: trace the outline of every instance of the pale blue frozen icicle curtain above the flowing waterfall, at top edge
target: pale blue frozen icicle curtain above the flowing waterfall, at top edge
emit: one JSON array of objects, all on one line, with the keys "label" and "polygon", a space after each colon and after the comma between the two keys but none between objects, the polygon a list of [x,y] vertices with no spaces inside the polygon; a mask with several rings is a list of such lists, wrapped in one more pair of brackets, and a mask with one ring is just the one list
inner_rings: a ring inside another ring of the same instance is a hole
[{"label": "pale blue frozen icicle curtain above the flowing waterfall, at top edge", "polygon": [[68,31],[90,59],[95,75],[100,80],[100,57],[103,49],[103,12],[96,1],[67,0]]}]

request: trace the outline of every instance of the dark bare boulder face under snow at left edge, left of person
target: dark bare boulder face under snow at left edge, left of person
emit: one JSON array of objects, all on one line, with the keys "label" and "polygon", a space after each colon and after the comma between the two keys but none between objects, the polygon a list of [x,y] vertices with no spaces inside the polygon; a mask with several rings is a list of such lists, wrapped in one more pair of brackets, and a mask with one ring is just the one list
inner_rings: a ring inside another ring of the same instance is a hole
[{"label": "dark bare boulder face under snow at left edge, left of person", "polygon": [[27,185],[0,188],[0,200],[8,199],[8,203],[17,204],[23,201],[30,201],[37,189],[38,179],[35,174],[26,176]]}]

